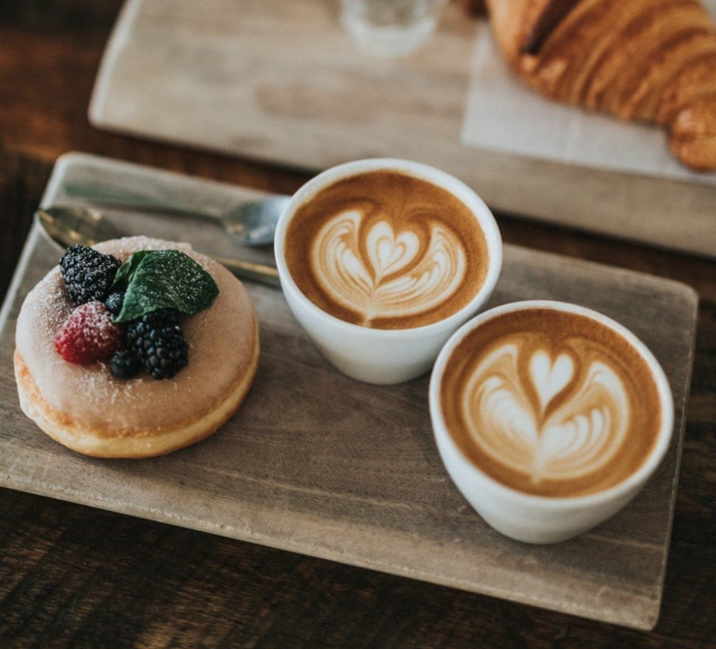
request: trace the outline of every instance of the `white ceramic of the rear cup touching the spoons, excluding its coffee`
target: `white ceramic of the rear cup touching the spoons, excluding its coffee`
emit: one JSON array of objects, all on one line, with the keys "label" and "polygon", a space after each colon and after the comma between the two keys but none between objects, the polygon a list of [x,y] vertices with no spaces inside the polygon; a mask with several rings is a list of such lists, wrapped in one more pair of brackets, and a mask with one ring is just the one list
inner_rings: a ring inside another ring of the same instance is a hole
[{"label": "white ceramic of the rear cup touching the spoons, excluding its coffee", "polygon": [[[340,179],[368,171],[388,169],[424,179],[447,189],[475,214],[488,245],[490,264],[485,283],[470,303],[457,313],[425,326],[405,329],[374,329],[336,318],[301,293],[286,266],[286,228],[296,210],[321,189]],[[374,384],[394,384],[424,374],[440,348],[458,327],[475,315],[490,297],[502,267],[502,240],[495,219],[482,199],[466,184],[433,167],[394,158],[348,162],[315,176],[296,191],[284,209],[274,240],[281,288],[296,320],[309,334],[321,354],[354,379]]]}]

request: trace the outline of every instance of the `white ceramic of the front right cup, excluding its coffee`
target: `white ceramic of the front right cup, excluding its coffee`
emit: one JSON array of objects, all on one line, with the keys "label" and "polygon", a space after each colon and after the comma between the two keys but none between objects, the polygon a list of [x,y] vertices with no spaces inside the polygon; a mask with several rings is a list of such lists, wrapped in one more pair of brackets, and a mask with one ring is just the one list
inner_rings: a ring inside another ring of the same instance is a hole
[{"label": "white ceramic of the front right cup, excluding its coffee", "polygon": [[[587,496],[533,496],[491,478],[465,457],[445,426],[440,406],[440,384],[445,366],[460,341],[483,323],[503,313],[551,308],[592,318],[624,338],[646,361],[657,385],[662,420],[651,453],[632,475],[604,491]],[[659,466],[669,447],[674,425],[674,406],[669,382],[654,355],[627,328],[601,313],[574,304],[551,300],[528,300],[505,304],[481,313],[455,332],[435,361],[430,378],[430,417],[435,442],[450,478],[470,505],[497,531],[526,543],[557,543],[606,521],[637,495]]]}]

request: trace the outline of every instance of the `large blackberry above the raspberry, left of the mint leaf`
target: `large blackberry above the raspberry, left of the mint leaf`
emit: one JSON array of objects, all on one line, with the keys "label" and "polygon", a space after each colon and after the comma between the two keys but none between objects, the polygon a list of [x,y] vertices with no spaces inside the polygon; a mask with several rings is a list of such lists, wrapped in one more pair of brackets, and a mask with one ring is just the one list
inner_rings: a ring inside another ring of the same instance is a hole
[{"label": "large blackberry above the raspberry, left of the mint leaf", "polygon": [[59,270],[75,304],[104,301],[120,267],[115,257],[83,245],[68,248],[59,260]]}]

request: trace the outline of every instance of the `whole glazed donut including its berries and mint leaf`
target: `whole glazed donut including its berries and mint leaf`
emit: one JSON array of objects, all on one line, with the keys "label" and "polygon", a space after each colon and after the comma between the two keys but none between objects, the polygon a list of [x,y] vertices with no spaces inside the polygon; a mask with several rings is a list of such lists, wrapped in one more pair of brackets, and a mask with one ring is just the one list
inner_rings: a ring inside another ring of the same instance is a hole
[{"label": "whole glazed donut including its berries and mint leaf", "polygon": [[146,458],[202,440],[258,366],[251,298],[185,244],[73,246],[27,295],[15,376],[24,413],[85,455]]}]

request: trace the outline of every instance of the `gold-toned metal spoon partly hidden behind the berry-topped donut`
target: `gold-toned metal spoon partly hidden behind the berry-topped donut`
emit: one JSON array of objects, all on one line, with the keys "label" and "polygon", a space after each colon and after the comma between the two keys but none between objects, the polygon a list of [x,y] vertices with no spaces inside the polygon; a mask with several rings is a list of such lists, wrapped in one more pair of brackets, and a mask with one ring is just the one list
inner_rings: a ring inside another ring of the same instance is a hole
[{"label": "gold-toned metal spoon partly hidden behind the berry-topped donut", "polygon": [[[91,246],[122,236],[115,225],[97,209],[77,205],[38,209],[35,212],[35,221],[47,239],[63,250],[75,244]],[[231,257],[211,256],[241,279],[280,286],[279,273],[274,266]]]}]

